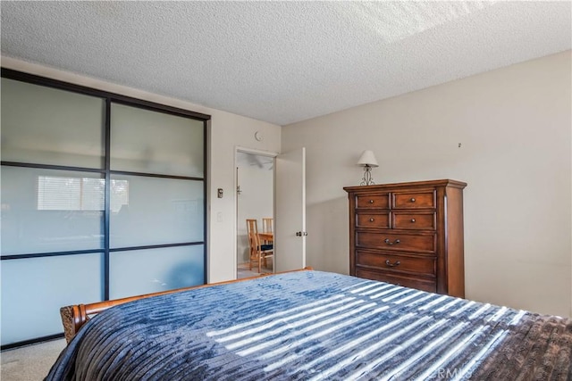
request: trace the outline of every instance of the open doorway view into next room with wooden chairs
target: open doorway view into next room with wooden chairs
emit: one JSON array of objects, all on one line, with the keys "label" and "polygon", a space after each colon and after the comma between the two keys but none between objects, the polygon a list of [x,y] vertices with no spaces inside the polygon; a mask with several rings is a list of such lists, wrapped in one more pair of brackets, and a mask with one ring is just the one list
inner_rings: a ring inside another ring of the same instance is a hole
[{"label": "open doorway view into next room with wooden chairs", "polygon": [[[254,277],[273,272],[274,158],[237,152],[236,163],[237,277]],[[256,224],[250,235],[247,219]]]}]

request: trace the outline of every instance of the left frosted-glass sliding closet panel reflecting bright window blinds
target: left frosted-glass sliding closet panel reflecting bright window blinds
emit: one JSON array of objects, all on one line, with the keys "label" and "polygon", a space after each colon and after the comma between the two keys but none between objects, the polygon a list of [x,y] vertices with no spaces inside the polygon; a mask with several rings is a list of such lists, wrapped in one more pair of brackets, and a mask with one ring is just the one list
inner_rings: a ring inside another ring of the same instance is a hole
[{"label": "left frosted-glass sliding closet panel reflecting bright window blinds", "polygon": [[2,79],[2,344],[104,292],[105,100]]}]

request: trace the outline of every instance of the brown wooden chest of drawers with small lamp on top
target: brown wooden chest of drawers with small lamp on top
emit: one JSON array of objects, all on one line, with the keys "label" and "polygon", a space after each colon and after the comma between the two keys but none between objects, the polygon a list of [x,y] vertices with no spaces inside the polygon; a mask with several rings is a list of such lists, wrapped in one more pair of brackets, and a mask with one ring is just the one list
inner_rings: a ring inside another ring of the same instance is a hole
[{"label": "brown wooden chest of drawers with small lamp on top", "polygon": [[344,187],[349,274],[465,297],[465,186],[445,179]]}]

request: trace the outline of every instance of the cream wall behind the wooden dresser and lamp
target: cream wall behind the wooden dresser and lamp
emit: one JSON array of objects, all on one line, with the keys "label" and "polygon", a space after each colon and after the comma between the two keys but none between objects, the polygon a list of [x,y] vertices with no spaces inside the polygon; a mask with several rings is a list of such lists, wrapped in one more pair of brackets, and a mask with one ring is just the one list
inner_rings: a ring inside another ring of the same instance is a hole
[{"label": "cream wall behind the wooden dresser and lamp", "polygon": [[378,184],[468,183],[467,298],[569,315],[570,65],[554,54],[282,128],[282,152],[307,147],[307,264],[349,272],[342,186],[371,149]]}]

